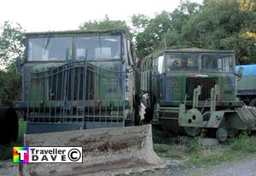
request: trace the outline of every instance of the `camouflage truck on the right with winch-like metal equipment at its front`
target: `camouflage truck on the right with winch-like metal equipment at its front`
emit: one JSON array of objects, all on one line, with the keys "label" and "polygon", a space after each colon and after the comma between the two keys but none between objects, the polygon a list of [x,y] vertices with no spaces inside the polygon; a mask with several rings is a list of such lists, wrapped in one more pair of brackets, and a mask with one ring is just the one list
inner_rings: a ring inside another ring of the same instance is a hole
[{"label": "camouflage truck on the right with winch-like metal equipment at its front", "polygon": [[221,141],[253,128],[255,110],[242,108],[236,98],[235,65],[232,51],[169,48],[150,54],[140,68],[141,118],[170,133],[195,136],[206,129]]}]

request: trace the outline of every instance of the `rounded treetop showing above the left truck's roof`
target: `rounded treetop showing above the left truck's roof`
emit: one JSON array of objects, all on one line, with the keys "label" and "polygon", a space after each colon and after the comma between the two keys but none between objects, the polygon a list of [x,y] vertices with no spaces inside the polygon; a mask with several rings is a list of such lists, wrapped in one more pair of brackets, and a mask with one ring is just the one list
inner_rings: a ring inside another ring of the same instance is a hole
[{"label": "rounded treetop showing above the left truck's roof", "polygon": [[79,26],[80,30],[93,31],[93,30],[124,30],[126,34],[132,37],[131,29],[127,26],[125,20],[110,20],[108,15],[103,20],[89,20]]}]

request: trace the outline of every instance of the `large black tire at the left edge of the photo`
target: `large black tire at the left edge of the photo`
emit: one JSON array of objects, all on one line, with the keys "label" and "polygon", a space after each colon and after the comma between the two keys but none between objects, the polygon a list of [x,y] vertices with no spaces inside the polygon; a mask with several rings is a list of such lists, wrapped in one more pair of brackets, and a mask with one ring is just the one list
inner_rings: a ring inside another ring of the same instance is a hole
[{"label": "large black tire at the left edge of the photo", "polygon": [[0,109],[0,145],[8,145],[18,138],[19,122],[16,111],[12,107]]}]

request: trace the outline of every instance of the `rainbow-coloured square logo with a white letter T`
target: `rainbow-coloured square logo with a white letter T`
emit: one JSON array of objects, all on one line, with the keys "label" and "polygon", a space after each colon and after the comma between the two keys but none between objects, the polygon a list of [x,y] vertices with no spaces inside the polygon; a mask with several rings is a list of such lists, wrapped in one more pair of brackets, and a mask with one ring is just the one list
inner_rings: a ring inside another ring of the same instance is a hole
[{"label": "rainbow-coloured square logo with a white letter T", "polygon": [[29,162],[29,147],[14,147],[14,163]]}]

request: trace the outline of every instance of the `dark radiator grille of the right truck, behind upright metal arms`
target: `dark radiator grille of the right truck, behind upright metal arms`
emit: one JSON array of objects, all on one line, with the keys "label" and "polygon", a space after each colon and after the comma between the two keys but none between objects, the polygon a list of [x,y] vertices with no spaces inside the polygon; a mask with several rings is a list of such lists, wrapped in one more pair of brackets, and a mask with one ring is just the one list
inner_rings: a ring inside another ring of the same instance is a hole
[{"label": "dark radiator grille of the right truck, behind upright metal arms", "polygon": [[206,100],[211,98],[211,88],[217,84],[216,77],[187,77],[186,79],[186,94],[188,94],[187,99],[193,100],[194,89],[198,85],[201,86],[201,95],[199,100]]}]

